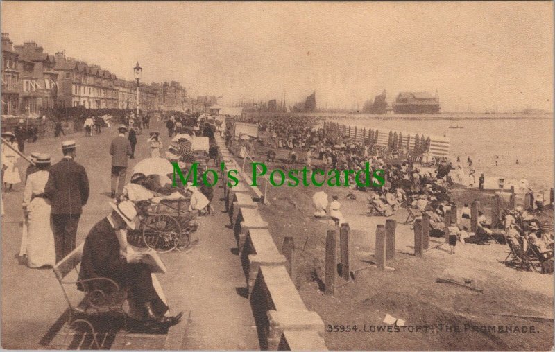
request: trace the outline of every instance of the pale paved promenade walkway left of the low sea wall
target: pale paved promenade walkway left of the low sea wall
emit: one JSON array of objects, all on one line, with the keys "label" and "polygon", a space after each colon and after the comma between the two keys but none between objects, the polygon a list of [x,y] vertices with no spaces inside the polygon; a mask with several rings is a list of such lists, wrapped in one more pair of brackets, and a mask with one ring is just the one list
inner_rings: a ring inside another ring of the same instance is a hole
[{"label": "pale paved promenade walkway left of the low sea wall", "polygon": [[[162,132],[164,146],[169,145],[162,123],[153,123]],[[151,130],[155,130],[151,128]],[[79,222],[77,242],[81,243],[89,229],[110,206],[110,155],[108,146],[117,134],[114,127],[94,137],[73,134],[78,143],[77,161],[83,164],[91,183],[91,196]],[[138,136],[135,156],[130,160],[127,179],[133,166],[148,156],[148,131]],[[61,159],[62,139],[46,137],[26,144],[25,154],[51,152],[53,162]],[[19,161],[20,173],[26,164]],[[6,215],[2,218],[2,314],[1,346],[4,349],[44,349],[40,340],[64,313],[67,303],[51,269],[29,269],[18,265],[15,254],[21,240],[23,184],[16,192],[6,193]],[[159,275],[171,310],[191,311],[182,349],[259,349],[253,315],[248,299],[241,296],[244,274],[237,255],[232,230],[225,227],[229,218],[223,213],[221,188],[214,189],[215,217],[200,218],[196,236],[200,241],[191,252],[162,254],[169,272]],[[133,343],[135,349],[153,348]],[[162,346],[157,347],[159,349]]]}]

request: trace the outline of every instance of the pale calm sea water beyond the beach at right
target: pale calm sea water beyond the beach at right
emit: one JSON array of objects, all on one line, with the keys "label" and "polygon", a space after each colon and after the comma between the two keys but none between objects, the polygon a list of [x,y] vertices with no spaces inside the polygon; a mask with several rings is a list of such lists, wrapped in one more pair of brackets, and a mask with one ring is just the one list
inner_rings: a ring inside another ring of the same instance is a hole
[{"label": "pale calm sea water beyond the beach at right", "polygon": [[[356,115],[354,115],[356,116]],[[552,118],[504,119],[378,119],[333,118],[339,124],[359,128],[378,129],[379,132],[408,131],[414,134],[436,135],[450,139],[450,160],[461,164],[468,172],[466,159],[470,156],[476,173],[485,177],[521,179],[527,177],[536,191],[549,191],[553,187]],[[463,128],[449,128],[459,126]],[[498,156],[495,166],[495,156]],[[518,164],[516,161],[518,160]]]}]

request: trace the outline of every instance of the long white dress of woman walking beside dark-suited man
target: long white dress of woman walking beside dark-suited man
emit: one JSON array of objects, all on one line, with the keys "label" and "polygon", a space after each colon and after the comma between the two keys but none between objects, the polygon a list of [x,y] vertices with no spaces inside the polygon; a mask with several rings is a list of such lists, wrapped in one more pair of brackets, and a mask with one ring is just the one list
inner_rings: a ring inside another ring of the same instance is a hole
[{"label": "long white dress of woman walking beside dark-suited man", "polygon": [[50,224],[50,202],[42,197],[48,181],[48,171],[40,170],[29,175],[23,193],[23,206],[28,211],[27,265],[29,267],[54,266],[56,250]]}]

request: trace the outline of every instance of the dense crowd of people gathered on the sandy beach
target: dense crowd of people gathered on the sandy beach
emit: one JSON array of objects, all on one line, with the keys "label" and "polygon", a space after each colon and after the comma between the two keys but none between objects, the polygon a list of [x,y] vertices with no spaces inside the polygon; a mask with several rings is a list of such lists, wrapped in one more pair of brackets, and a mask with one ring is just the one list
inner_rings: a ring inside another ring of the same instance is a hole
[{"label": "dense crowd of people gathered on the sandy beach", "polygon": [[[456,162],[456,166],[447,161],[439,163],[433,170],[422,170],[420,165],[408,159],[376,154],[372,151],[372,146],[364,141],[347,139],[333,129],[315,128],[314,121],[300,120],[294,116],[280,116],[280,118],[265,118],[264,120],[248,118],[244,121],[257,123],[259,132],[266,137],[260,139],[260,144],[267,147],[265,155],[267,162],[276,161],[275,151],[285,149],[289,150],[291,159],[289,161],[304,163],[309,168],[354,170],[356,173],[364,170],[365,164],[368,162],[371,170],[384,170],[386,184],[381,188],[358,186],[355,182],[355,173],[341,173],[341,183],[345,181],[345,177],[348,177],[350,191],[346,197],[355,199],[357,195],[360,196],[361,193],[355,193],[355,190],[370,192],[369,213],[377,213],[386,217],[394,215],[401,206],[409,209],[415,217],[426,213],[430,220],[431,236],[443,237],[446,231],[449,232],[452,253],[454,253],[456,242],[462,238],[467,238],[468,243],[480,245],[488,244],[493,238],[490,224],[486,222],[486,216],[481,211],[478,214],[477,230],[474,234],[471,233],[468,204],[463,207],[461,218],[457,220],[459,226],[445,227],[445,214],[454,205],[450,197],[450,188],[456,184],[463,184],[462,174],[464,171],[460,159]],[[241,148],[253,148],[250,140],[239,141],[239,143],[241,143]],[[297,153],[302,157],[299,157]],[[253,155],[252,152],[248,154]],[[480,191],[484,191],[484,174],[476,175],[470,158],[468,164],[470,177],[475,177],[475,181],[469,186],[477,185]],[[454,177],[450,175],[451,170],[455,170]],[[364,180],[360,181],[364,182]],[[528,187],[526,178],[521,179],[516,188],[516,191],[533,193]],[[544,206],[543,193],[533,193],[531,198],[529,211],[533,211],[533,209],[541,211]],[[538,200],[537,204],[536,200]],[[325,204],[330,205],[330,213],[326,214],[327,209],[323,208],[320,202],[314,202],[316,217],[329,215],[338,225],[345,221],[339,210],[341,204],[337,195],[332,197],[331,202],[325,202]],[[331,206],[332,204],[333,206]],[[552,231],[545,231],[544,243],[549,243],[547,238],[552,238]]]}]

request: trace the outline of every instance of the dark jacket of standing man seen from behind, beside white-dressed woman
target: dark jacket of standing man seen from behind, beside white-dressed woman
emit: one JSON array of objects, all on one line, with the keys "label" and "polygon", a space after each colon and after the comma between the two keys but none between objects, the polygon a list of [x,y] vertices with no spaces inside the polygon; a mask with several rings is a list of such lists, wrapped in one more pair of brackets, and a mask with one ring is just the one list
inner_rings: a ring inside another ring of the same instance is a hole
[{"label": "dark jacket of standing man seen from behind, beside white-dressed woman", "polygon": [[89,199],[89,178],[85,168],[74,159],[63,158],[50,167],[44,194],[53,214],[80,214]]}]

